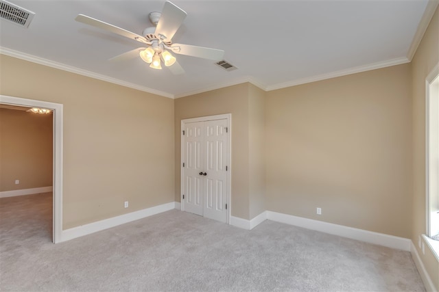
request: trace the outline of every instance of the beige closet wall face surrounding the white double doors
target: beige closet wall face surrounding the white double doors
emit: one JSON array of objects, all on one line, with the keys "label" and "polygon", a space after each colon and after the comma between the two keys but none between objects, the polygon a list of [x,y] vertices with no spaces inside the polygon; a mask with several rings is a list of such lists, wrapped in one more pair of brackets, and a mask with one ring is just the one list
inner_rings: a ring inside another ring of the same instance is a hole
[{"label": "beige closet wall face surrounding the white double doors", "polygon": [[[233,216],[249,219],[248,83],[177,98],[175,100],[175,164],[180,165],[181,120],[217,114],[232,114]],[[175,200],[180,202],[180,168],[175,169]]]}]

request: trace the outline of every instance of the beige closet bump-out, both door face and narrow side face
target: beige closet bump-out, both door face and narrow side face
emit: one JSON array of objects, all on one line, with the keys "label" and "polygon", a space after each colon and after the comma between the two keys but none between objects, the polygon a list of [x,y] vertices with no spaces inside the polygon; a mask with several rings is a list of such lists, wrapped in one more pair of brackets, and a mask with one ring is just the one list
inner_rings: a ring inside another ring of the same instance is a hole
[{"label": "beige closet bump-out, both door face and narrow side face", "polygon": [[[246,220],[265,211],[265,92],[250,83],[175,100],[176,165],[181,120],[232,114],[231,215]],[[180,168],[175,200],[180,202]]]}]

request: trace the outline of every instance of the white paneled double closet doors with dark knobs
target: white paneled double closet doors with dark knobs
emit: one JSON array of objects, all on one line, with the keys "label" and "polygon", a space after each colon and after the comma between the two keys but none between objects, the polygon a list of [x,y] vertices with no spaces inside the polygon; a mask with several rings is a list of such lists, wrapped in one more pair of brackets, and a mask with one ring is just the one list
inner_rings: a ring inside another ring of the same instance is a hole
[{"label": "white paneled double closet doors with dark knobs", "polygon": [[228,121],[185,122],[182,209],[227,222]]}]

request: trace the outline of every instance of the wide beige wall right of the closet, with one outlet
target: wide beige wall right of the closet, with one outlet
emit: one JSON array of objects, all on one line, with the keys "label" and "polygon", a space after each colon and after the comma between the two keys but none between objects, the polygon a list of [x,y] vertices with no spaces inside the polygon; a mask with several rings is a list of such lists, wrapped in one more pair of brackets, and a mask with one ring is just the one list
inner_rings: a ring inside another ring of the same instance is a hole
[{"label": "wide beige wall right of the closet, with one outlet", "polygon": [[410,92],[409,64],[268,92],[267,209],[410,237]]}]

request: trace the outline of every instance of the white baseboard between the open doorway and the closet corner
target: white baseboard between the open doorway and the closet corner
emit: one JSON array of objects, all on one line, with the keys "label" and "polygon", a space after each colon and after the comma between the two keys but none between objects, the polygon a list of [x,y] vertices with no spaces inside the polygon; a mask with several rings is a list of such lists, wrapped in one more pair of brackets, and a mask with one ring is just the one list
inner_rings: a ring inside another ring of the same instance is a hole
[{"label": "white baseboard between the open doorway and the closet corner", "polygon": [[112,228],[121,224],[126,224],[128,222],[132,222],[134,220],[139,220],[145,217],[156,215],[158,213],[163,213],[165,211],[173,210],[175,209],[175,205],[176,205],[175,202],[169,202],[167,204],[161,204],[155,207],[108,218],[106,220],[101,220],[90,224],[73,227],[67,230],[62,230],[60,242],[74,239],[77,237],[82,237],[84,235],[89,235],[91,233],[96,233],[101,230]]}]

